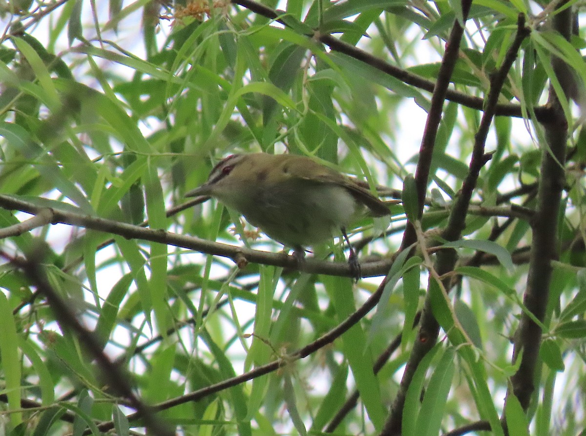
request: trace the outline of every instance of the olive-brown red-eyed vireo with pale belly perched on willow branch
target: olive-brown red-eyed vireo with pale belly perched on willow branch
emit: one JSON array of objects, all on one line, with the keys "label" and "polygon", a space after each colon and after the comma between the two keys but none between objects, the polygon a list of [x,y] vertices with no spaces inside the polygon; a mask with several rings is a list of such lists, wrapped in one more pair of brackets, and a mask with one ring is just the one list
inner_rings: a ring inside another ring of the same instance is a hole
[{"label": "olive-brown red-eyed vireo with pale belly perched on willow branch", "polygon": [[[212,170],[206,183],[186,197],[209,195],[244,215],[271,239],[295,250],[343,235],[365,213],[388,215],[387,205],[351,178],[297,155],[231,155]],[[348,241],[347,241],[348,242]],[[350,243],[348,242],[348,245]],[[350,266],[359,277],[350,246]]]}]

